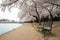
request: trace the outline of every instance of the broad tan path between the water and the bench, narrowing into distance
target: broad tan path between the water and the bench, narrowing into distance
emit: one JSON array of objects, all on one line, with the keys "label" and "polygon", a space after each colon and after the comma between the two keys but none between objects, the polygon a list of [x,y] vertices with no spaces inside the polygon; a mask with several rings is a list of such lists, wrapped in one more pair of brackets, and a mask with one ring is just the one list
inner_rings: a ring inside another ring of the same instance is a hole
[{"label": "broad tan path between the water and the bench, narrowing into distance", "polygon": [[30,23],[26,23],[22,27],[2,35],[0,40],[43,40],[42,37]]}]

